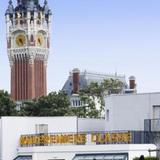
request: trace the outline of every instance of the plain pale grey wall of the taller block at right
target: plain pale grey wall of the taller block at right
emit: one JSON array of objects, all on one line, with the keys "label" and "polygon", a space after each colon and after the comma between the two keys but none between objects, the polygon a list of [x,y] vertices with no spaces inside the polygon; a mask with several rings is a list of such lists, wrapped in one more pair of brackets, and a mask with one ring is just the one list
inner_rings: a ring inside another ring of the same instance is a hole
[{"label": "plain pale grey wall of the taller block at right", "polygon": [[153,105],[160,105],[160,93],[106,97],[106,130],[144,130],[144,119],[153,119]]}]

